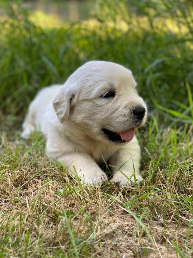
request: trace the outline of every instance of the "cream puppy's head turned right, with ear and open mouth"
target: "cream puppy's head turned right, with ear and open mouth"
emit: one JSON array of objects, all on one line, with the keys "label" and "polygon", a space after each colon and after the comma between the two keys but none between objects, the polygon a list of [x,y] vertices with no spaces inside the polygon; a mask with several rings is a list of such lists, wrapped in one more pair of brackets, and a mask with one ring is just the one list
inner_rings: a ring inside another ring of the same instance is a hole
[{"label": "cream puppy's head turned right, with ear and open mouth", "polygon": [[69,119],[85,136],[123,143],[142,126],[147,107],[131,71],[111,62],[92,61],[76,70],[53,102],[61,123]]}]

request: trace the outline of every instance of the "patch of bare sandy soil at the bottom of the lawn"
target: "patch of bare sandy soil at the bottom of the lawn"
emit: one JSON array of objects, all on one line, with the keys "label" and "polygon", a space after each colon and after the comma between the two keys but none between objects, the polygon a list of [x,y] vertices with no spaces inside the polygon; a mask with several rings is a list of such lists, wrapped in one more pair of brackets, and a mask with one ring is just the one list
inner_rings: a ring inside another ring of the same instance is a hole
[{"label": "patch of bare sandy soil at the bottom of the lawn", "polygon": [[140,236],[139,231],[134,238],[135,230],[136,220],[129,214],[114,215],[101,239],[104,242],[104,257],[176,258],[175,251],[165,243],[162,227],[152,229],[154,243],[143,234]]}]

